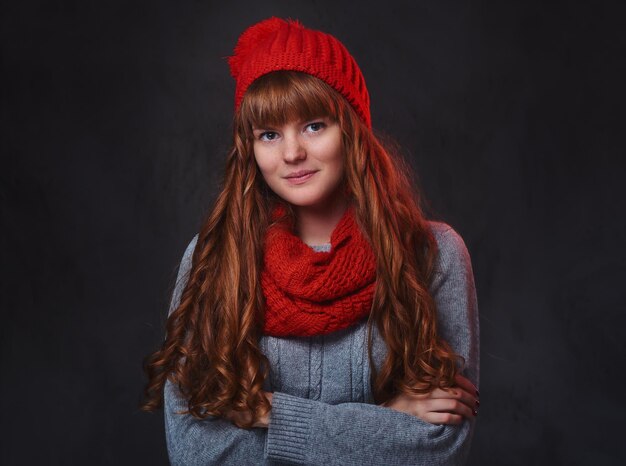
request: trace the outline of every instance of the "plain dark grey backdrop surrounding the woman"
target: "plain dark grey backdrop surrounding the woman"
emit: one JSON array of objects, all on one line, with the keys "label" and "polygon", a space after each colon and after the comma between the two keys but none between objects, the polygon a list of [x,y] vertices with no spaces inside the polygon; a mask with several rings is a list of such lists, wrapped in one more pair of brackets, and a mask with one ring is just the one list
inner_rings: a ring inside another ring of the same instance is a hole
[{"label": "plain dark grey backdrop surrounding the woman", "polygon": [[626,460],[622,2],[4,3],[2,464],[166,464],[141,361],[219,183],[223,58],[271,15],[347,45],[466,240],[471,464]]}]

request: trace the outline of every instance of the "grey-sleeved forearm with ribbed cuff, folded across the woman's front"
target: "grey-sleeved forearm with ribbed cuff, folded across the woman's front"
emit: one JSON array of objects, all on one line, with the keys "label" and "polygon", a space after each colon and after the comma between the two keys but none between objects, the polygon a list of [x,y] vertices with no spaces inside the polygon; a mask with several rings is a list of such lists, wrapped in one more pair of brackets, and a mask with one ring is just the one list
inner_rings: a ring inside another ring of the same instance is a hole
[{"label": "grey-sleeved forearm with ribbed cuff, folded across the woman's front", "polygon": [[382,406],[275,392],[267,457],[295,464],[461,464],[472,427],[473,421],[436,426]]}]

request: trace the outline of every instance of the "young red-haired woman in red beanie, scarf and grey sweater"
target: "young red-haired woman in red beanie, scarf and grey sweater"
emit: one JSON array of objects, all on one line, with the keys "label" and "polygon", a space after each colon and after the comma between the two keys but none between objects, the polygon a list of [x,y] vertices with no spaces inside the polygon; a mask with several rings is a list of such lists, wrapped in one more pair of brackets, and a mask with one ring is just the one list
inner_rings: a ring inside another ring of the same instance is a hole
[{"label": "young red-haired woman in red beanie, scarf and grey sweater", "polygon": [[463,240],[424,218],[336,38],[272,18],[229,64],[224,185],[147,364],[172,463],[462,463],[479,406]]}]

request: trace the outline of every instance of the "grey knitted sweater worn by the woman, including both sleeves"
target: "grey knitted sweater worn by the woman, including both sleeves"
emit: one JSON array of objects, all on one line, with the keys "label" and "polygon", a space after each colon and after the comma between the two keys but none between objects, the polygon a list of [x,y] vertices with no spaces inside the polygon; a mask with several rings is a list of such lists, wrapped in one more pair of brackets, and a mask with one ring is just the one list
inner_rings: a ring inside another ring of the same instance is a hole
[{"label": "grey knitted sweater worn by the woman, including both sleeves", "polygon": [[[439,244],[430,286],[443,338],[465,358],[463,374],[478,386],[478,309],[470,258],[448,225],[430,223]],[[180,264],[170,312],[187,281],[194,238]],[[269,428],[240,429],[220,418],[177,414],[186,401],[165,386],[165,429],[175,465],[431,465],[463,464],[474,420],[459,426],[429,424],[377,406],[370,386],[367,326],[316,337],[264,336],[270,361],[264,389],[273,392]],[[386,345],[376,327],[373,362],[380,368]]]}]

